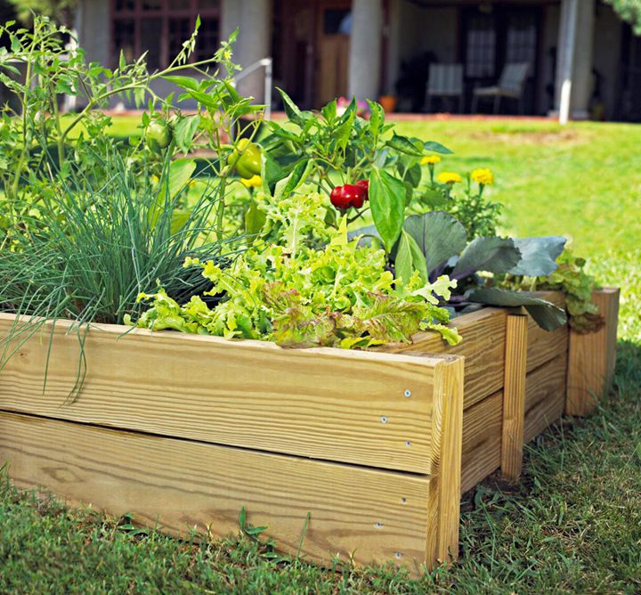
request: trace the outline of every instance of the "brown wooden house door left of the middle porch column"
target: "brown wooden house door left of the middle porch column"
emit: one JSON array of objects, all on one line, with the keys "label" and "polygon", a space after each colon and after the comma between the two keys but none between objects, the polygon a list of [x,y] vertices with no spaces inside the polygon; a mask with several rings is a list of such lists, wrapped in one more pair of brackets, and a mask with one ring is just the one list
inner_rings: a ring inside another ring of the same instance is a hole
[{"label": "brown wooden house door left of the middle porch column", "polygon": [[318,6],[315,103],[318,106],[347,95],[351,2],[323,2]]}]

